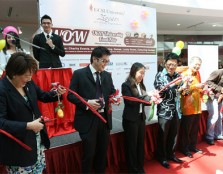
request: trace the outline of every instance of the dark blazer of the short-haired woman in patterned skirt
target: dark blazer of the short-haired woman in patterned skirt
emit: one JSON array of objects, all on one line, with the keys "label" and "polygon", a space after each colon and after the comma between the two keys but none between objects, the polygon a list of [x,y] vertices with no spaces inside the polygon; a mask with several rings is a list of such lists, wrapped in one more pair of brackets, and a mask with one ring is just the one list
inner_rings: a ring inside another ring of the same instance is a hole
[{"label": "dark blazer of the short-haired woman in patterned skirt", "polygon": [[[25,150],[14,140],[0,134],[0,162],[5,165],[30,166],[37,161],[36,134],[27,130],[27,122],[41,116],[37,101],[57,101],[55,91],[44,92],[33,81],[24,87],[28,102],[20,95],[15,87],[4,77],[0,80],[0,129],[12,134],[32,148]],[[42,143],[46,148],[50,142],[46,130],[40,131]]]}]

